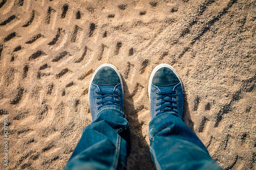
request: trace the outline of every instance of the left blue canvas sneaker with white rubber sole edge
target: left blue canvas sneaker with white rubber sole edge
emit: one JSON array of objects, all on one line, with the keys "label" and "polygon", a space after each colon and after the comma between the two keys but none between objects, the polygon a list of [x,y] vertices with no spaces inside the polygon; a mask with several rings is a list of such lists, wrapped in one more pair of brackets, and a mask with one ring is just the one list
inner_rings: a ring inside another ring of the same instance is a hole
[{"label": "left blue canvas sneaker with white rubber sole edge", "polygon": [[117,68],[102,64],[94,72],[89,85],[89,106],[92,120],[103,106],[119,106],[123,111],[123,82]]}]

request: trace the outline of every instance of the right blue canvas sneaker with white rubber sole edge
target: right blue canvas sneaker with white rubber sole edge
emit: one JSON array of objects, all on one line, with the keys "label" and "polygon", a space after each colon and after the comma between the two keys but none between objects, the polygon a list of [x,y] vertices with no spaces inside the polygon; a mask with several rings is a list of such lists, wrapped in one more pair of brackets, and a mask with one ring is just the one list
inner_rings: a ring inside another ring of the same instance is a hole
[{"label": "right blue canvas sneaker with white rubber sole edge", "polygon": [[148,83],[151,119],[163,112],[175,112],[182,117],[183,89],[175,69],[169,64],[157,65]]}]

